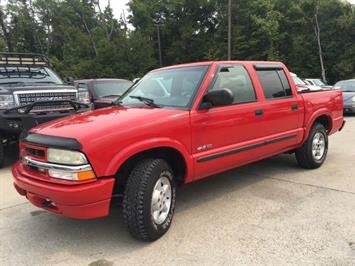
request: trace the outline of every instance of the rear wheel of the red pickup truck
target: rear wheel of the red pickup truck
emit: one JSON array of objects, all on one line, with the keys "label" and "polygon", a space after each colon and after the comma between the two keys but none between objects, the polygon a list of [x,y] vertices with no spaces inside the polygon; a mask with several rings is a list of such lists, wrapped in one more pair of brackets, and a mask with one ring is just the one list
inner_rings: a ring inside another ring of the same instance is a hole
[{"label": "rear wheel of the red pickup truck", "polygon": [[328,153],[328,134],[322,124],[313,125],[308,139],[301,148],[296,150],[298,164],[306,169],[319,168]]}]

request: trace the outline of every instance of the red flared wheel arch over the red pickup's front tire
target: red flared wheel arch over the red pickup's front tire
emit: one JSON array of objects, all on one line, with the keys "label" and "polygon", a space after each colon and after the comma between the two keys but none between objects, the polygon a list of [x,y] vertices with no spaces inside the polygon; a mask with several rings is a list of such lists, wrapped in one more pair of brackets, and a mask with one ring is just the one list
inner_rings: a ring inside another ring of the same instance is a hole
[{"label": "red flared wheel arch over the red pickup's front tire", "polygon": [[177,150],[185,160],[186,164],[186,175],[185,179],[191,177],[194,173],[194,165],[191,154],[187,151],[186,147],[177,140],[170,138],[153,138],[144,141],[136,142],[123,150],[119,151],[109,162],[105,176],[114,176],[120,167],[132,156],[151,150],[154,148],[172,148]]}]

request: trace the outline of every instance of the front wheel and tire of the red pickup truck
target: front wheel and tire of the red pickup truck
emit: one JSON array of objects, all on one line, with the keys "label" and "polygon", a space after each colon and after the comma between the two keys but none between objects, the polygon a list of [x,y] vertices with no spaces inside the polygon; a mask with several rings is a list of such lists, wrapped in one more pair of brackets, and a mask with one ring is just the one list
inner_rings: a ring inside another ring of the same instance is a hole
[{"label": "front wheel and tire of the red pickup truck", "polygon": [[169,229],[174,215],[174,174],[162,159],[146,159],[132,170],[123,198],[123,217],[131,235],[154,241]]}]

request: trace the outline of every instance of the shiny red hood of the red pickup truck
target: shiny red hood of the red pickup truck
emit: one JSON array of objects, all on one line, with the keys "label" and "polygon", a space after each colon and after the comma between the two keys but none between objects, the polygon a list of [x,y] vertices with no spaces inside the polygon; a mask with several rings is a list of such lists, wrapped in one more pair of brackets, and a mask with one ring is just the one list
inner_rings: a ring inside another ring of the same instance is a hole
[{"label": "shiny red hood of the red pickup truck", "polygon": [[186,115],[185,110],[173,110],[150,107],[109,107],[96,111],[69,116],[37,126],[31,133],[74,138],[88,143],[105,135],[130,135],[130,132],[142,132],[156,129],[156,125]]}]

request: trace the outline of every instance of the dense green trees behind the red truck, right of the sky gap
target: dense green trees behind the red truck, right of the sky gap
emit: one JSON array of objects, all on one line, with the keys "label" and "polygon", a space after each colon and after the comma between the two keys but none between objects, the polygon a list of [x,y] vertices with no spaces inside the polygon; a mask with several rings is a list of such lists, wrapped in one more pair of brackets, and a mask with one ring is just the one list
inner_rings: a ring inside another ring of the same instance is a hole
[{"label": "dense green trees behind the red truck, right of the sky gap", "polygon": [[[227,58],[227,0],[131,0],[131,23],[154,41],[162,17],[164,64]],[[341,0],[232,1],[232,58],[281,60],[304,77],[321,76],[314,15],[319,5],[323,57],[332,83],[355,75],[354,6]]]}]

